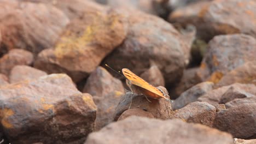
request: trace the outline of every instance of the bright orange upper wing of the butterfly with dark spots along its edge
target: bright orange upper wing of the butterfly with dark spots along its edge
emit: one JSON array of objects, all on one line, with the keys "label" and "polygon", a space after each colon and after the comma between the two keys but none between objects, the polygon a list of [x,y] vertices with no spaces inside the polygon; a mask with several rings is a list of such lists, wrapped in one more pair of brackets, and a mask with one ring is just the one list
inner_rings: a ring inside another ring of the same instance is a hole
[{"label": "bright orange upper wing of the butterfly with dark spots along its edge", "polygon": [[138,77],[136,74],[132,73],[129,69],[122,69],[124,76],[131,81],[132,85],[136,85],[142,88],[147,89],[148,91],[155,93],[159,95],[160,97],[165,98],[164,94],[159,91],[158,88],[150,85],[148,82],[141,79],[141,77]]}]

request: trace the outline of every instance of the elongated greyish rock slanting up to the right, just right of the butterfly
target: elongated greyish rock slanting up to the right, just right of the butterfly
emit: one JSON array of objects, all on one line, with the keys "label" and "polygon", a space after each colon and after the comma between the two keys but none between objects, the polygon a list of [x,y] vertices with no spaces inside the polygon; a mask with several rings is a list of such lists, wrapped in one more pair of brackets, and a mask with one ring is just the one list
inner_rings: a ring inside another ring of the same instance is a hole
[{"label": "elongated greyish rock slanting up to the right, just right of the butterfly", "polygon": [[179,96],[176,100],[174,100],[172,104],[172,109],[173,110],[181,109],[187,104],[197,101],[197,98],[207,93],[208,91],[211,91],[212,89],[213,89],[212,82],[199,83],[191,87],[187,91],[183,92],[181,96]]}]

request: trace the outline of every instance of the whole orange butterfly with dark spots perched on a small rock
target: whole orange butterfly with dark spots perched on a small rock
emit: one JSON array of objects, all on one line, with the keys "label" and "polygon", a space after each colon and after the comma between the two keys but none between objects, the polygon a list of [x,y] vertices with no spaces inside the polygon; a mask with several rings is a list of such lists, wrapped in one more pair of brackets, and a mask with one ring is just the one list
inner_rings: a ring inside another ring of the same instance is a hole
[{"label": "whole orange butterfly with dark spots perched on a small rock", "polygon": [[168,101],[171,101],[169,99],[169,95],[165,87],[162,87],[162,86],[154,87],[150,85],[148,82],[146,82],[145,80],[141,79],[141,77],[132,73],[132,71],[129,69],[124,68],[122,69],[122,72],[126,77],[126,85],[131,89],[133,93],[143,94],[146,96],[146,98],[147,97],[153,98],[153,99],[164,98]]}]

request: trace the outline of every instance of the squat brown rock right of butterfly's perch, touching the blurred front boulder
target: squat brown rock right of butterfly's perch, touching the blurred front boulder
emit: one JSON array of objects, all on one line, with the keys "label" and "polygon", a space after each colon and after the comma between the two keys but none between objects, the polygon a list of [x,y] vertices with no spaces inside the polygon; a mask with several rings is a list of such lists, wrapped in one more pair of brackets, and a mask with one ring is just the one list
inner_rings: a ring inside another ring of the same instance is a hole
[{"label": "squat brown rock right of butterfly's perch, touching the blurred front boulder", "polygon": [[216,108],[206,102],[193,102],[175,111],[173,117],[185,122],[201,123],[212,127],[216,115]]}]

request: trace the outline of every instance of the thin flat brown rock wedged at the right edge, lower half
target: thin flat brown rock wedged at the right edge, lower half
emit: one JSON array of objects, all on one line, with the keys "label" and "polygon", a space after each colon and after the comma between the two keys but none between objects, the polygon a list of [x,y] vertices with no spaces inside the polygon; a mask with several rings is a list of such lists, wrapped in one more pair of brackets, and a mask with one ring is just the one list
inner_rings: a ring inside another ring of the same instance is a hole
[{"label": "thin flat brown rock wedged at the right edge, lower half", "polygon": [[241,104],[251,104],[251,103],[256,103],[255,95],[253,97],[231,100],[228,103],[225,103],[225,107],[229,108],[229,107],[234,107],[234,106],[238,106]]}]

